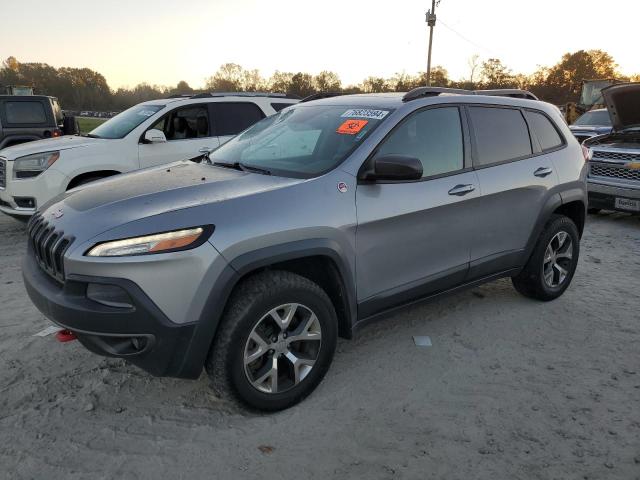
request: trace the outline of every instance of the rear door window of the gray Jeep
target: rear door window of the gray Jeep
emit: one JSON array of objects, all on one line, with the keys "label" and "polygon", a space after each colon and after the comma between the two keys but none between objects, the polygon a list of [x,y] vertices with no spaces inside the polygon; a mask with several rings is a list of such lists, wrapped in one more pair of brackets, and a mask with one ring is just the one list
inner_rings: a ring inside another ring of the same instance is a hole
[{"label": "rear door window of the gray Jeep", "polygon": [[531,138],[522,113],[513,108],[469,107],[476,140],[476,166],[530,156]]}]

